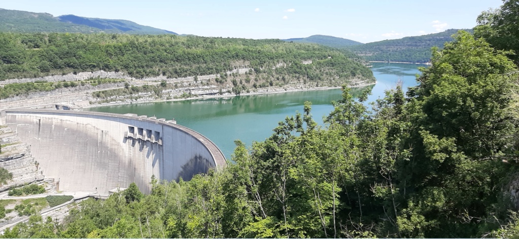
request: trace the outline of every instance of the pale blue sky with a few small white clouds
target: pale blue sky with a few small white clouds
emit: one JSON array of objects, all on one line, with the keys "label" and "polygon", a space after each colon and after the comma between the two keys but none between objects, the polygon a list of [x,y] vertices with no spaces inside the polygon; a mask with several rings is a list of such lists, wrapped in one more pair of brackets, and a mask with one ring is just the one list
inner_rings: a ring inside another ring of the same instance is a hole
[{"label": "pale blue sky with a few small white clouds", "polygon": [[482,11],[501,4],[501,0],[3,0],[0,8],[125,19],[199,36],[285,39],[321,34],[369,43],[472,28]]}]

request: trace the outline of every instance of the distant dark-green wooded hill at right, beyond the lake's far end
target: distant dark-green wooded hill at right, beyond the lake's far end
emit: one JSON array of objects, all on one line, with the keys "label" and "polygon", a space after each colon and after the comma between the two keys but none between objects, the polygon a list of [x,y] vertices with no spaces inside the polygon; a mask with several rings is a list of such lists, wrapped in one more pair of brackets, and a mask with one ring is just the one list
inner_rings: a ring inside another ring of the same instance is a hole
[{"label": "distant dark-green wooded hill at right, beyond the lake's far end", "polygon": [[[427,63],[431,59],[431,47],[442,48],[445,42],[453,39],[451,36],[457,31],[456,29],[450,29],[445,32],[423,36],[376,41],[350,46],[348,49],[363,56],[368,61]],[[472,30],[465,31],[472,32]]]}]

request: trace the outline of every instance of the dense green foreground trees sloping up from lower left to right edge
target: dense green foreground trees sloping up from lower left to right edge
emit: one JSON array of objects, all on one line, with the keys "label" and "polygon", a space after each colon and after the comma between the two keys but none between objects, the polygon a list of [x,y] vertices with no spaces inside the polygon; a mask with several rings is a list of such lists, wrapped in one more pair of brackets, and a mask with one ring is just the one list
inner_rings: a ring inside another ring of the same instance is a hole
[{"label": "dense green foreground trees sloping up from lower left to right edge", "polygon": [[[470,49],[470,50],[468,50]],[[190,181],[133,184],[62,223],[33,216],[4,237],[492,237],[514,209],[517,66],[460,32],[419,85],[371,109],[344,88],[321,128],[304,113]],[[366,92],[367,93],[367,92]],[[511,114],[512,113],[512,114]],[[502,228],[501,228],[502,227]]]}]

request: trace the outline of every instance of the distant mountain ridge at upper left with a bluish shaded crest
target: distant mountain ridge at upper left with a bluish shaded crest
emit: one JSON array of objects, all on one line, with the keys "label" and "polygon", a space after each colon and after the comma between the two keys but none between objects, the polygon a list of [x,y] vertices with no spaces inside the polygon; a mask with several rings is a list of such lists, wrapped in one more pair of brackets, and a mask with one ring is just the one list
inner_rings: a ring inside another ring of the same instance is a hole
[{"label": "distant mountain ridge at upper left with a bluish shaded crest", "polygon": [[0,32],[70,32],[175,34],[171,31],[144,26],[127,20],[85,18],[74,15],[54,17],[49,13],[8,10],[0,8]]}]

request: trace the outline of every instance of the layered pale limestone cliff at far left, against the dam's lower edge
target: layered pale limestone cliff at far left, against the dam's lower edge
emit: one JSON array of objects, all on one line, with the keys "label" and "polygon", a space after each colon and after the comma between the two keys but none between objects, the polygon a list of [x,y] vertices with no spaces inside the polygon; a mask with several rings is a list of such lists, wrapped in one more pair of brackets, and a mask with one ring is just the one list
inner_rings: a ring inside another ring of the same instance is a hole
[{"label": "layered pale limestone cliff at far left, against the dam's lower edge", "polygon": [[44,176],[38,173],[36,162],[31,157],[29,147],[22,143],[16,132],[6,125],[0,125],[0,167],[12,173],[12,180],[0,186],[0,191],[6,191],[10,187],[29,184],[37,180],[43,180]]}]

